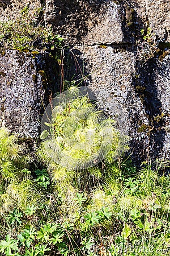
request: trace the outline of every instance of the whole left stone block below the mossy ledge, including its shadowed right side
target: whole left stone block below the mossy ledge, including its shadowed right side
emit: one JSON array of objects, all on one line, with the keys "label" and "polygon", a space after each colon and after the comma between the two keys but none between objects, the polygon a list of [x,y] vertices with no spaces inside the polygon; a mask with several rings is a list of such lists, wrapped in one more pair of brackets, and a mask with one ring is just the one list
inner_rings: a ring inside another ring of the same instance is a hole
[{"label": "whole left stone block below the mossy ledge, including its shadowed right side", "polygon": [[41,54],[12,50],[0,55],[0,62],[0,126],[36,139],[40,114],[50,94],[58,91],[56,67]]}]

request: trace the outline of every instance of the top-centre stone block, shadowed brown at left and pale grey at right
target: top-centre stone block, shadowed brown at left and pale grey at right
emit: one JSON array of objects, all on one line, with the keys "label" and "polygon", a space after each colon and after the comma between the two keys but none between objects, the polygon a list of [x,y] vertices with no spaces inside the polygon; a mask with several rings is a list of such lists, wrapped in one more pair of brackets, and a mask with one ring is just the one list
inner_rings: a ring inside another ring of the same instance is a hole
[{"label": "top-centre stone block, shadowed brown at left and pale grey at right", "polygon": [[124,41],[122,9],[114,1],[47,0],[45,22],[70,44]]}]

